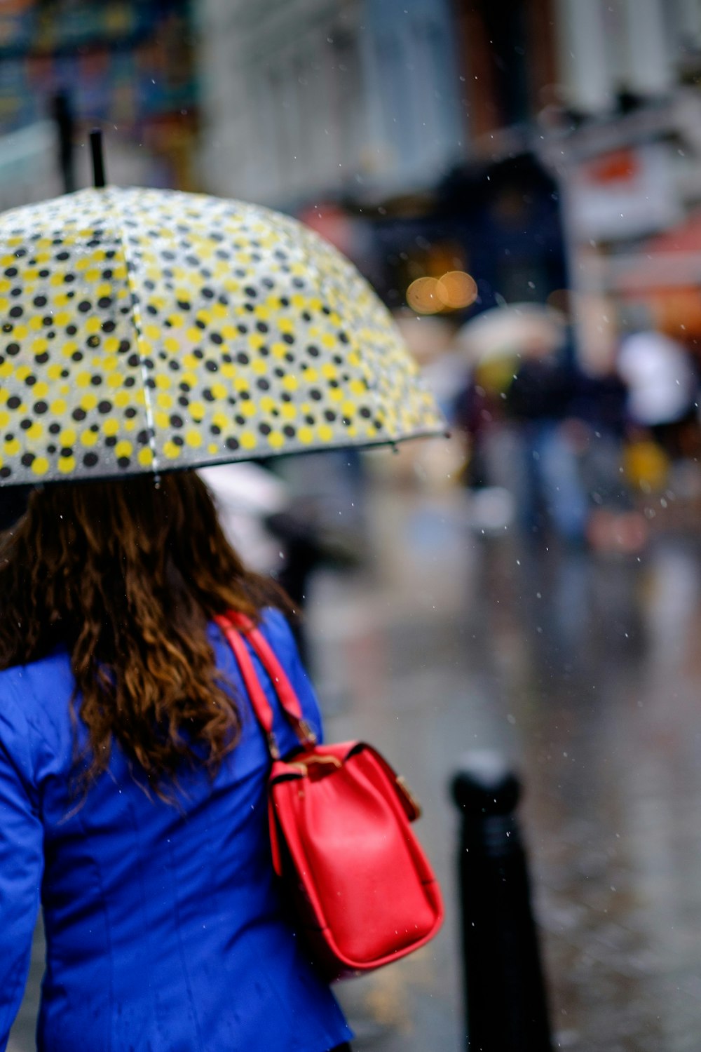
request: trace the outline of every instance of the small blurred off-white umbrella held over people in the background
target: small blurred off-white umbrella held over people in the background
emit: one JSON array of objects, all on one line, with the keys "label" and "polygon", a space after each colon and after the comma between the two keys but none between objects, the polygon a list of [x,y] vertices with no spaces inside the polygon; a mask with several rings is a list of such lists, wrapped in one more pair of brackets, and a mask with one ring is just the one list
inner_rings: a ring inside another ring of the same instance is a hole
[{"label": "small blurred off-white umbrella held over people in the background", "polygon": [[492,307],[467,322],[457,333],[457,343],[474,364],[497,358],[551,355],[564,339],[564,316],[538,303]]}]

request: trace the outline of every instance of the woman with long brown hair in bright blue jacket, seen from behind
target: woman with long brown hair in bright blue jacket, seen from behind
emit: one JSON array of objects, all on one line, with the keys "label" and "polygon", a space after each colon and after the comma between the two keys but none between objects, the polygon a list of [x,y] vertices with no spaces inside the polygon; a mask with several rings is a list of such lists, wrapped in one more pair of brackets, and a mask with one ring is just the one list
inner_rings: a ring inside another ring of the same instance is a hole
[{"label": "woman with long brown hair in bright blue jacket, seen from behind", "polygon": [[192,472],[47,486],[3,535],[0,1052],[40,898],[40,1050],[327,1052],[351,1036],[281,912],[268,755],[212,624],[232,608],[260,622],[318,730],[271,602]]}]

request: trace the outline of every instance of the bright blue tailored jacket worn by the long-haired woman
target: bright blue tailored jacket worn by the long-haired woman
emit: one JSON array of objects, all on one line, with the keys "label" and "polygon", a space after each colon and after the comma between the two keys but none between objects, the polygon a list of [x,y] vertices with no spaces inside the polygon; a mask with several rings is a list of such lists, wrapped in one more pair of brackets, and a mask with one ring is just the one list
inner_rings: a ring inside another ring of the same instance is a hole
[{"label": "bright blue tailored jacket worn by the long-haired woman", "polygon": [[[269,610],[262,627],[321,730],[285,619]],[[327,1052],[350,1037],[281,914],[263,734],[217,627],[209,638],[243,733],[213,782],[203,770],[183,774],[178,807],[149,798],[115,747],[76,808],[66,651],[0,672],[0,1052],[40,901],[40,1052]],[[291,749],[294,735],[268,694],[281,746]]]}]

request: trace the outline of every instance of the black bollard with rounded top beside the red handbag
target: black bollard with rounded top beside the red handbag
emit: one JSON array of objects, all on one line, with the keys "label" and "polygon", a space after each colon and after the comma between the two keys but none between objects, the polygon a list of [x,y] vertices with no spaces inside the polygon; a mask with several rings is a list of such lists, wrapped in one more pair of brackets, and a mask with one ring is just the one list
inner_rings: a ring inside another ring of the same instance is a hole
[{"label": "black bollard with rounded top beside the red handbag", "polygon": [[552,1052],[525,852],[520,784],[497,753],[469,752],[453,784],[469,1052]]}]

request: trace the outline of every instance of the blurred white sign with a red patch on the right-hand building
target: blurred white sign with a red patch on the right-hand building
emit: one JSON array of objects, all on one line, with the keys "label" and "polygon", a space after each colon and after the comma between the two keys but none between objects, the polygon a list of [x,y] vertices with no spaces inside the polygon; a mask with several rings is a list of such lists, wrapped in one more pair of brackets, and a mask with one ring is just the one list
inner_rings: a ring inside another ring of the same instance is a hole
[{"label": "blurred white sign with a red patch on the right-hand building", "polygon": [[586,240],[636,238],[682,218],[661,143],[618,149],[582,163],[573,174],[571,195],[575,231]]}]

